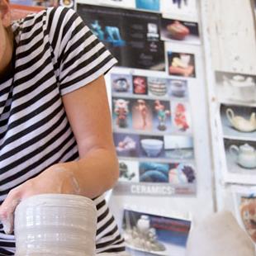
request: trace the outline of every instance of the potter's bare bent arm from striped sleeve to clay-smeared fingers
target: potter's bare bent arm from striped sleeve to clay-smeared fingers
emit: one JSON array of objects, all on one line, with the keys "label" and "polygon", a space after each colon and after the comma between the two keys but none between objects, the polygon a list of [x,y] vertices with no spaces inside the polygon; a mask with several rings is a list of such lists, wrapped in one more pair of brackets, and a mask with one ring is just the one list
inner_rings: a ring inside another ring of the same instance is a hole
[{"label": "potter's bare bent arm from striped sleeve to clay-smeared fingers", "polygon": [[63,96],[65,111],[78,143],[80,159],[55,164],[36,178],[12,189],[0,206],[7,233],[13,230],[13,212],[19,201],[43,193],[97,197],[114,186],[118,162],[112,141],[111,116],[104,78]]}]

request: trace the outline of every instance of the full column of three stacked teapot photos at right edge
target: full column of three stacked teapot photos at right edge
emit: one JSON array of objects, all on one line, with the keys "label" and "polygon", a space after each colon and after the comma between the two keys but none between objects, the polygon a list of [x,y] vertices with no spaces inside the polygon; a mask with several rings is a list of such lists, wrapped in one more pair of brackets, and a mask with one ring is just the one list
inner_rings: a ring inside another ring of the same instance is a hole
[{"label": "full column of three stacked teapot photos at right edge", "polygon": [[254,184],[256,174],[256,80],[254,75],[216,71],[223,137],[223,178],[227,183]]}]

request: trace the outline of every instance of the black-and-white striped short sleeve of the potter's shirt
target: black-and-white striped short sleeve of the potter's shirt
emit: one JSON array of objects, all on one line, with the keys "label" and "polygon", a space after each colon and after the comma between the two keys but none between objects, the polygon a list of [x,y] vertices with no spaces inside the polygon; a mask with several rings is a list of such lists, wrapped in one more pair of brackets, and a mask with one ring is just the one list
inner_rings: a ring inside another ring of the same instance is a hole
[{"label": "black-and-white striped short sleeve of the potter's shirt", "polygon": [[110,51],[72,9],[55,8],[49,19],[61,95],[85,86],[116,64]]}]

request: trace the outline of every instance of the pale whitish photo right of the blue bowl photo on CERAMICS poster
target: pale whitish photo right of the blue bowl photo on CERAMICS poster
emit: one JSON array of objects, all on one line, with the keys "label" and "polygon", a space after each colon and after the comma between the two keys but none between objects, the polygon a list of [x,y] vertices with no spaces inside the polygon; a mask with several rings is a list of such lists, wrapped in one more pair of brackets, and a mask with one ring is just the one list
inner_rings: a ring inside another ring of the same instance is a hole
[{"label": "pale whitish photo right of the blue bowl photo on CERAMICS poster", "polygon": [[164,154],[169,159],[193,159],[193,138],[182,135],[164,135]]}]

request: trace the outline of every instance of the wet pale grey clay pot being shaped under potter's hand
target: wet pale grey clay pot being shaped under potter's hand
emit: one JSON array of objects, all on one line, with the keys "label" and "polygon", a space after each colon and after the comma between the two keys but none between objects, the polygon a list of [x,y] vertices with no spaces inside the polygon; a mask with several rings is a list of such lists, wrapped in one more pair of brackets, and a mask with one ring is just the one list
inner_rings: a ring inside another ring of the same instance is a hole
[{"label": "wet pale grey clay pot being shaped under potter's hand", "polygon": [[42,194],[15,211],[17,256],[95,255],[97,210],[82,196]]}]

